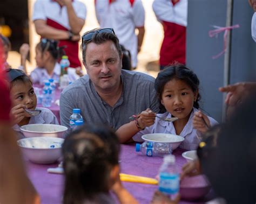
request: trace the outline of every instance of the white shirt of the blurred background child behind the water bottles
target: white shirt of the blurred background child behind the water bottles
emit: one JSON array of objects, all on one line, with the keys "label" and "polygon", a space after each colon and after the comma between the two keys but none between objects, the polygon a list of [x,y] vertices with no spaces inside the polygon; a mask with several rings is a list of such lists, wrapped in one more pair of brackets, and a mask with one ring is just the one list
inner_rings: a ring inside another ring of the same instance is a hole
[{"label": "white shirt of the blurred background child behind the water bottles", "polygon": [[[68,68],[69,81],[73,82],[79,79],[79,75],[76,74],[76,69]],[[44,82],[48,82],[49,79],[53,79],[56,83],[59,82],[60,76],[60,65],[58,62],[55,63],[52,76],[48,74],[46,69],[37,67],[35,68],[31,74],[30,78],[33,83],[39,83],[40,85],[44,85]]]}]

